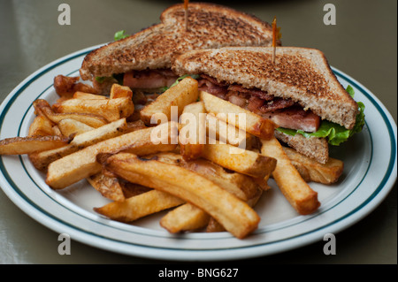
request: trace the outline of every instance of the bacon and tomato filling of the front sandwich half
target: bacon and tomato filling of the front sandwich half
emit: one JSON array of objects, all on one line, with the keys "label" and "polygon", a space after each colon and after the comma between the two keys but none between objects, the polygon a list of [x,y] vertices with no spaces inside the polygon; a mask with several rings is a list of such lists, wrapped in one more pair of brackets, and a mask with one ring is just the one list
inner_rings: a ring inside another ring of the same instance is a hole
[{"label": "bacon and tomato filling of the front sandwich half", "polygon": [[257,88],[243,88],[239,84],[228,84],[206,74],[198,79],[200,90],[236,104],[243,109],[254,112],[263,118],[271,119],[276,125],[284,128],[315,133],[321,118],[291,99],[282,99]]}]

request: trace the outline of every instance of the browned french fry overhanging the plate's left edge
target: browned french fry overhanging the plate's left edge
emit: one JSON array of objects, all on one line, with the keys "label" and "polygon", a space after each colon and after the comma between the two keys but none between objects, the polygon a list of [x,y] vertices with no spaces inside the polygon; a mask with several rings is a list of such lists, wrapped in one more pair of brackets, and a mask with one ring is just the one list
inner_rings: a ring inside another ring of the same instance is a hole
[{"label": "browned french fry overhanging the plate's left edge", "polygon": [[60,136],[27,136],[0,141],[0,155],[25,155],[66,146],[71,140]]}]

